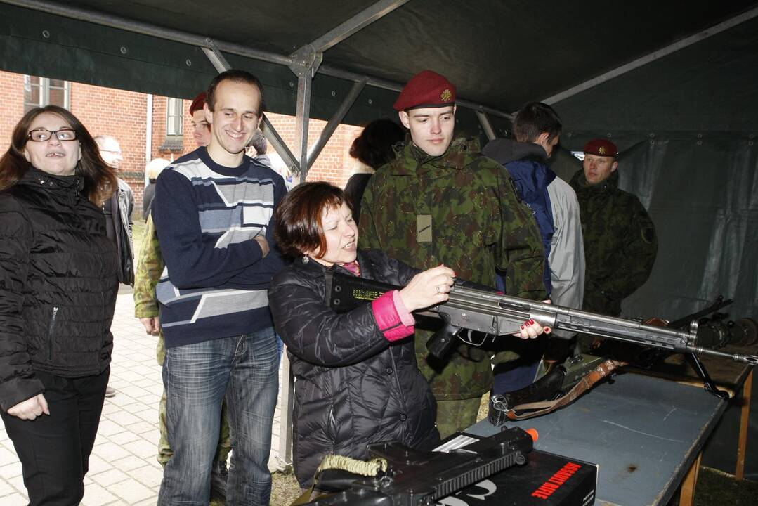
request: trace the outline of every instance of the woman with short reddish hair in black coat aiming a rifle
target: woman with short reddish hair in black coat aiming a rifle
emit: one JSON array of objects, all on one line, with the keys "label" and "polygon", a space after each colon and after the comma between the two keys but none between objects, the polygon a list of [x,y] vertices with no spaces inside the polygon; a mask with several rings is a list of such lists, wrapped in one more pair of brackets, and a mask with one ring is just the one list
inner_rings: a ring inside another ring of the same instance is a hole
[{"label": "woman with short reddish hair in black coat aiming a rifle", "polygon": [[[357,250],[345,195],[327,183],[290,191],[274,220],[279,249],[295,258],[274,276],[268,301],[296,377],[293,463],[300,485],[311,484],[327,454],[365,459],[366,445],[382,441],[434,448],[437,404],[407,338],[415,325],[410,312],[447,300],[453,270],[420,272],[380,251]],[[405,288],[337,314],[324,303],[328,269]]]}]

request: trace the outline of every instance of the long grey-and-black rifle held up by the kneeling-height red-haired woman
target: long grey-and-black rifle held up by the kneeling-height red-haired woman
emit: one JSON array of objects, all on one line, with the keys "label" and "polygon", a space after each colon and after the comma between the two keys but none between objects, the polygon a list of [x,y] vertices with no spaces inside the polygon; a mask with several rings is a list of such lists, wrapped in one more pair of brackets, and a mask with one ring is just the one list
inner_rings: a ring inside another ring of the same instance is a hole
[{"label": "long grey-and-black rifle held up by the kneeling-height red-haired woman", "polygon": [[[325,302],[337,313],[352,310],[371,302],[387,291],[402,289],[392,284],[356,278],[340,272],[328,271]],[[555,306],[535,300],[522,299],[495,291],[467,288],[464,281],[456,281],[446,303],[431,306],[417,313],[435,315],[446,325],[442,332],[427,344],[435,357],[443,357],[455,343],[454,335],[460,329],[484,332],[489,335],[509,335],[518,332],[523,322],[534,319],[543,327],[583,332],[603,338],[627,341],[678,353],[710,355],[736,362],[756,365],[756,355],[728,354],[711,350],[697,343],[697,321],[690,328],[665,328],[646,325],[630,319],[615,318],[568,307]],[[454,332],[454,329],[458,329]],[[434,351],[433,351],[434,350]]]}]

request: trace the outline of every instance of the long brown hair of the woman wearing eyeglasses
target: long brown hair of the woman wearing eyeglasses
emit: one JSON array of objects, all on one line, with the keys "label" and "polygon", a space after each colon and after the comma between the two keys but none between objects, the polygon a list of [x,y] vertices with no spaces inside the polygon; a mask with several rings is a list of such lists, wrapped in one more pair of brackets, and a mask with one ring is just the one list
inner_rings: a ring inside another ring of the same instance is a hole
[{"label": "long brown hair of the woman wearing eyeglasses", "polygon": [[34,118],[45,112],[60,116],[77,133],[82,158],[77,163],[74,174],[83,178],[84,190],[89,201],[96,206],[102,206],[117,188],[114,169],[100,158],[100,150],[95,140],[81,121],[58,105],[33,108],[18,121],[11,134],[11,145],[0,158],[0,190],[14,186],[32,166],[23,156],[23,149],[27,145],[29,127]]}]

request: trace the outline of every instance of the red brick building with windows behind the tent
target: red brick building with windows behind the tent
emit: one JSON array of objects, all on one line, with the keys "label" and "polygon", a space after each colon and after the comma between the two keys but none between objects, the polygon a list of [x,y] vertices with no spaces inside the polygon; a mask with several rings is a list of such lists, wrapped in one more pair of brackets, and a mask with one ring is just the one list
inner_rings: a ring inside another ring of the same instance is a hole
[{"label": "red brick building with windows behind the tent", "polygon": [[[23,113],[36,105],[62,105],[92,136],[110,134],[121,144],[121,178],[134,190],[142,209],[145,165],[151,159],[173,160],[196,148],[189,115],[190,100],[152,96],[102,86],[25,76],[0,71],[0,91],[6,114],[0,117],[0,152],[8,149],[11,131]],[[267,113],[271,124],[295,152],[295,118]],[[152,125],[149,135],[147,125]],[[315,143],[326,121],[311,120],[309,144]],[[361,127],[340,125],[308,174],[308,181],[330,181],[343,187],[356,161],[348,151]],[[149,138],[148,138],[149,137]],[[269,146],[269,153],[274,149]],[[139,213],[135,213],[139,218]]]}]

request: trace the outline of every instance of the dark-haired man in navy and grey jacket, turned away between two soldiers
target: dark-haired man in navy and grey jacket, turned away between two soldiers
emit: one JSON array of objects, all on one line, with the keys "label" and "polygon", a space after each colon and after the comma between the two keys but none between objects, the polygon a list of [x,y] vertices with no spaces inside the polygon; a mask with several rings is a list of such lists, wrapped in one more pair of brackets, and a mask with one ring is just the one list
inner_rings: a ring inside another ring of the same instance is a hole
[{"label": "dark-haired man in navy and grey jacket, turned away between two soldiers", "polygon": [[[547,166],[560,141],[561,130],[560,118],[550,105],[531,102],[513,119],[515,140],[495,139],[482,152],[505,165],[540,228],[545,248],[543,281],[550,300],[559,306],[581,309],[584,244],[579,203],[572,187]],[[547,349],[547,338],[523,345],[518,361],[496,367],[495,393],[518,390],[534,382],[537,366]]]}]

